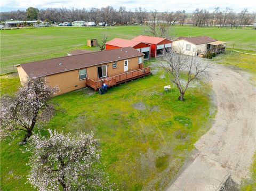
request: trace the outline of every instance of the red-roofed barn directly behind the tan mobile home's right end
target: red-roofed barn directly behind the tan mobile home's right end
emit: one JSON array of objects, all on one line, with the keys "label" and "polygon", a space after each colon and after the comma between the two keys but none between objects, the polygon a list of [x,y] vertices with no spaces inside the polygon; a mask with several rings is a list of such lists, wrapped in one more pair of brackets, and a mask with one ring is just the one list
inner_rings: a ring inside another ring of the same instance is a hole
[{"label": "red-roofed barn directly behind the tan mobile home's right end", "polygon": [[114,38],[113,40],[109,40],[106,43],[106,49],[116,49],[116,48],[123,48],[123,47],[133,47],[137,49],[139,52],[143,53],[144,59],[150,59],[150,44],[142,43],[140,41],[135,40],[127,40],[123,38]]}]

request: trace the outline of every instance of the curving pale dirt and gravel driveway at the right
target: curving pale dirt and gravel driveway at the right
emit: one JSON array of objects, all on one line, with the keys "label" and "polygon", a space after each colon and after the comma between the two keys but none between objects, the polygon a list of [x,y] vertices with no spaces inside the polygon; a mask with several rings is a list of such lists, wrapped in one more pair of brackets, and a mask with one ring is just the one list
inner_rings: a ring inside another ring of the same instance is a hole
[{"label": "curving pale dirt and gravel driveway at the right", "polygon": [[228,177],[248,176],[256,148],[256,89],[245,73],[214,64],[210,70],[218,113],[195,144],[197,155],[167,190],[219,190]]}]

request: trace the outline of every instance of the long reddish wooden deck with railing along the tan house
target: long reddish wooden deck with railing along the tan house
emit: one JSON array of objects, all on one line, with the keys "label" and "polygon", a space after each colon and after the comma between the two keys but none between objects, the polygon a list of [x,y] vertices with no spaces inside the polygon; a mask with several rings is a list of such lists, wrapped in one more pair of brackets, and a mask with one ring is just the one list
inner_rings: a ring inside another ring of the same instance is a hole
[{"label": "long reddish wooden deck with railing along the tan house", "polygon": [[125,72],[116,76],[103,78],[102,80],[98,80],[98,81],[94,81],[92,79],[86,78],[86,85],[92,87],[94,90],[97,90],[100,87],[102,87],[103,84],[106,84],[108,87],[111,87],[126,81],[147,76],[150,73],[151,73],[150,67],[147,67],[139,70],[134,70],[131,72]]}]

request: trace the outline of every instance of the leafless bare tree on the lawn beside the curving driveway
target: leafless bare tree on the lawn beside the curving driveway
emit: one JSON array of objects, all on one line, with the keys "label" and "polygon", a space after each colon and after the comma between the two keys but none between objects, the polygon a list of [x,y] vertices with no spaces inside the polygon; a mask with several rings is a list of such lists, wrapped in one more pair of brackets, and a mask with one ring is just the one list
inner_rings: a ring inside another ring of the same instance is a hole
[{"label": "leafless bare tree on the lawn beside the curving driveway", "polygon": [[[190,82],[194,80],[203,80],[209,77],[209,63],[202,63],[197,57],[179,53],[165,52],[161,67],[171,76],[171,81],[179,89],[179,100],[184,100],[184,95],[189,87]],[[182,83],[181,73],[186,74],[187,81]]]}]

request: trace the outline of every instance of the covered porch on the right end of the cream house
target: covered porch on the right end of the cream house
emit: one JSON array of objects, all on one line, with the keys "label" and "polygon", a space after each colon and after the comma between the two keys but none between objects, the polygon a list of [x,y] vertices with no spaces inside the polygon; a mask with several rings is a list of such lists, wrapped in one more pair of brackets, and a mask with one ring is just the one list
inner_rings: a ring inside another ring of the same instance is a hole
[{"label": "covered porch on the right end of the cream house", "polygon": [[220,54],[225,52],[226,49],[226,42],[223,41],[213,41],[211,43],[207,43],[206,46],[206,51],[199,53],[199,55],[206,55],[208,52],[210,52],[211,54]]}]

